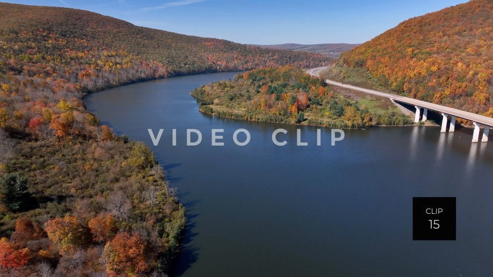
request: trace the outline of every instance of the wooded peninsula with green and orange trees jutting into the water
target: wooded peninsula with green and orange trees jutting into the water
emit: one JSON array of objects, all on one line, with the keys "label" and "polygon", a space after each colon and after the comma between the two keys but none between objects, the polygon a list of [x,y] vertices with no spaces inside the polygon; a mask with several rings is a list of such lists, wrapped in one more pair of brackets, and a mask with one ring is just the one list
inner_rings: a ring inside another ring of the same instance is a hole
[{"label": "wooded peninsula with green and orange trees jutting into the water", "polygon": [[242,120],[338,128],[411,124],[388,100],[354,99],[295,66],[261,68],[192,91],[200,110]]}]

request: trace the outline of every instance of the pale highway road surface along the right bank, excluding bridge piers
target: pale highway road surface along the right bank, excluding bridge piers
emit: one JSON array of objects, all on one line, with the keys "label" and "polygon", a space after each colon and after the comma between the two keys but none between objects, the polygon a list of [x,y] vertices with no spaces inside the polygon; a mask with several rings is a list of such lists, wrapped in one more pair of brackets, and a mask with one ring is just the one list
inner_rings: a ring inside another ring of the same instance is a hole
[{"label": "pale highway road surface along the right bank, excluding bridge piers", "polygon": [[[310,75],[318,77],[320,72],[324,71],[327,68],[328,67],[326,67],[326,66],[325,67],[311,68],[311,69],[308,69],[306,72]],[[437,111],[440,113],[449,114],[452,116],[463,118],[463,119],[471,121],[471,122],[476,122],[479,124],[483,124],[485,126],[493,127],[493,118],[491,118],[491,117],[487,117],[487,116],[483,116],[483,115],[479,115],[476,113],[467,112],[467,111],[463,111],[463,110],[459,110],[459,109],[449,108],[446,106],[433,104],[433,103],[429,103],[426,101],[416,100],[414,98],[404,97],[404,96],[400,96],[400,95],[396,95],[396,94],[390,94],[390,93],[376,91],[376,90],[372,90],[372,89],[366,89],[366,88],[351,86],[351,85],[335,82],[332,80],[325,80],[325,82],[329,85],[353,89],[353,90],[366,92],[366,93],[373,94],[373,95],[387,97],[387,98],[390,98],[391,100],[394,100],[397,102],[406,103],[409,105],[418,106],[418,107],[425,108],[428,110],[433,110],[433,111]]]}]

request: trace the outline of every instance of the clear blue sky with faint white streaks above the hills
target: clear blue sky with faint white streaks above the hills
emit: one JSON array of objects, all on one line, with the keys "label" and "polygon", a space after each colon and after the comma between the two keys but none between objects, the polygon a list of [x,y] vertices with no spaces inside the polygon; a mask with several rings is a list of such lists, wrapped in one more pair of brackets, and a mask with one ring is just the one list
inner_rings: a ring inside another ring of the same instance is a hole
[{"label": "clear blue sky with faint white streaks above the hills", "polygon": [[460,0],[25,0],[90,10],[135,25],[238,43],[363,43],[407,18]]}]

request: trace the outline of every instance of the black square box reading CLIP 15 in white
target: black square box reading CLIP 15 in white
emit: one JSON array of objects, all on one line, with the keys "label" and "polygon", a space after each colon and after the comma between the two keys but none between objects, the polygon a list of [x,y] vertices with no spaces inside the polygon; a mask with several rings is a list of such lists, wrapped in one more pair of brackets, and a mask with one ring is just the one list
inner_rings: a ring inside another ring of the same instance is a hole
[{"label": "black square box reading CLIP 15 in white", "polygon": [[412,239],[456,240],[456,197],[412,197]]}]

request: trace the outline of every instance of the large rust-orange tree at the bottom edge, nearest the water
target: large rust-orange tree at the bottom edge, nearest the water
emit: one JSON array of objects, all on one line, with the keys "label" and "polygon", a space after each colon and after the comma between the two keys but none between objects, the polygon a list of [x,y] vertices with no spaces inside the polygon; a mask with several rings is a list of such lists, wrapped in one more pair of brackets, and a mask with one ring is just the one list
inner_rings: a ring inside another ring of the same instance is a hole
[{"label": "large rust-orange tree at the bottom edge, nearest the water", "polygon": [[103,251],[109,273],[140,275],[156,264],[151,258],[148,243],[139,233],[119,233],[109,241]]}]

